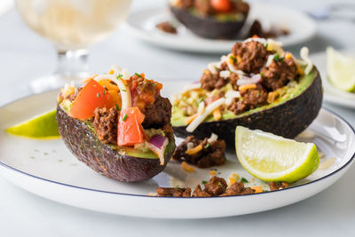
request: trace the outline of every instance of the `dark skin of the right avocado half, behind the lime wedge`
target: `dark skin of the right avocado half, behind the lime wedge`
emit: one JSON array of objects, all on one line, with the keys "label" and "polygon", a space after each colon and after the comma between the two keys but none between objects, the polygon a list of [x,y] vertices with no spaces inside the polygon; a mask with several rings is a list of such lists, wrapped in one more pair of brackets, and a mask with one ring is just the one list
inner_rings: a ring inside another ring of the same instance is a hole
[{"label": "dark skin of the right avocado half, behind the lime wedge", "polygon": [[251,130],[264,130],[284,138],[295,138],[305,130],[317,117],[323,99],[323,91],[319,71],[312,83],[295,98],[262,111],[224,121],[202,122],[193,133],[186,131],[186,126],[174,126],[177,137],[194,135],[206,138],[216,133],[218,138],[225,139],[229,146],[234,146],[235,128],[237,125]]}]

